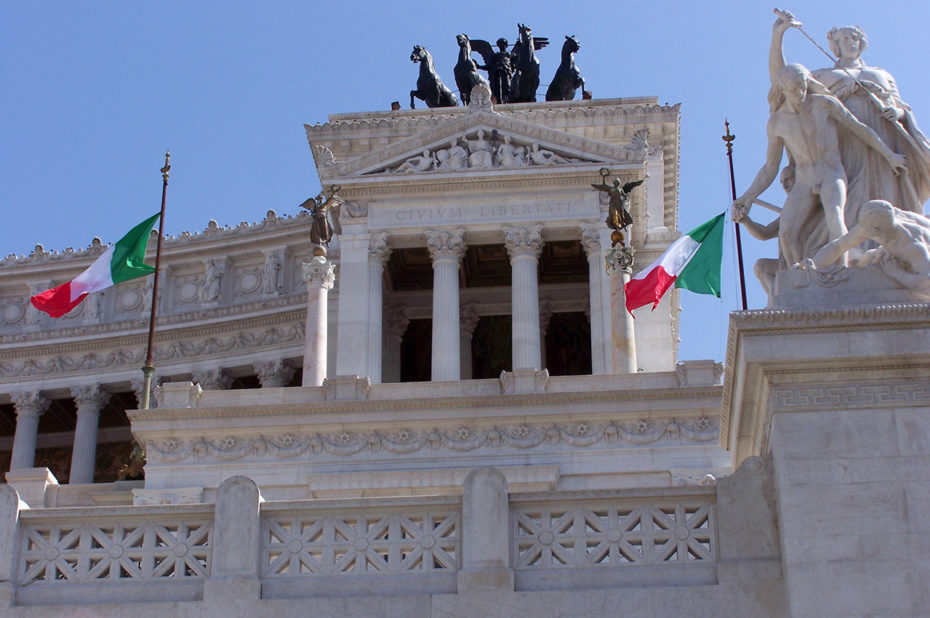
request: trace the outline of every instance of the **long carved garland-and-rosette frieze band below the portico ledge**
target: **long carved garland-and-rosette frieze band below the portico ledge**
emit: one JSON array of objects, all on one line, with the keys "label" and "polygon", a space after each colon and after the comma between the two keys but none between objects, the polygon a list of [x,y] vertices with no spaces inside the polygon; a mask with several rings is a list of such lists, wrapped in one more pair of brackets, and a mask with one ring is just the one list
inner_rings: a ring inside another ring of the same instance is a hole
[{"label": "long carved garland-and-rosette frieze band below the portico ledge", "polygon": [[657,443],[709,443],[719,437],[716,419],[639,420],[634,422],[587,422],[519,424],[491,427],[460,427],[452,430],[415,430],[336,433],[286,433],[258,437],[201,437],[193,440],[150,440],[146,454],[152,461],[176,463],[185,459],[314,457],[386,452],[408,455],[422,450],[468,452],[477,449],[544,448],[565,444],[584,448],[596,445]]}]

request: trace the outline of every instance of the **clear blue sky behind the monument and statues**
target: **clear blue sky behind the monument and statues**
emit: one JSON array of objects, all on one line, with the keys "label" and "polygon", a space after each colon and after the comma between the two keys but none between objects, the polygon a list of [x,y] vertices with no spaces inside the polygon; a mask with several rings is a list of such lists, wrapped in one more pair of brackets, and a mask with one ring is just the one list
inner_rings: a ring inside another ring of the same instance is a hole
[{"label": "clear blue sky behind the monument and statues", "polygon": [[[553,41],[574,34],[594,96],[655,95],[681,103],[680,225],[724,210],[729,179],[720,136],[737,139],[737,191],[762,163],[768,117],[766,2],[7,2],[0,7],[0,256],[113,242],[159,206],[172,152],[170,234],[297,211],[319,190],[303,124],[409,100],[414,44],[454,84],[455,35],[514,39],[518,21]],[[858,24],[863,57],[889,70],[930,126],[930,3],[803,0],[785,8],[821,44]],[[789,61],[827,60],[789,32]],[[826,46],[826,45],[824,45]],[[558,45],[540,52],[547,83]],[[541,89],[540,92],[544,92]],[[925,127],[926,128],[926,127]],[[769,201],[781,202],[780,189]],[[761,215],[764,217],[764,215]],[[750,307],[764,295],[753,261],[774,241],[747,235]],[[738,307],[732,234],[724,297],[683,293],[682,359],[723,360]]]}]

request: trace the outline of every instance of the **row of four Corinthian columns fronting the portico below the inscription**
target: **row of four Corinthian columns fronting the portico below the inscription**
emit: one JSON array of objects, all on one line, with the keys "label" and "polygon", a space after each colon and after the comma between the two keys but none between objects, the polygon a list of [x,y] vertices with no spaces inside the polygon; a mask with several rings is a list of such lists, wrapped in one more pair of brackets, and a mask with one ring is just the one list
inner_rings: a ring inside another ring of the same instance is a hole
[{"label": "row of four Corinthian columns fronting the portico below the inscription", "polygon": [[[502,229],[512,267],[514,369],[538,370],[544,365],[541,333],[547,316],[541,316],[537,277],[542,230],[542,225]],[[611,283],[604,269],[610,248],[609,230],[590,224],[579,232],[589,265],[592,371],[613,373]],[[473,306],[460,305],[459,271],[467,248],[465,230],[426,230],[424,235],[433,268],[431,379],[469,379],[469,343],[478,313]],[[409,319],[394,311],[382,318],[382,280],[391,255],[387,234],[343,235],[340,252],[336,374],[368,377],[372,383],[399,381],[400,342]],[[310,336],[308,329],[308,339]]]}]

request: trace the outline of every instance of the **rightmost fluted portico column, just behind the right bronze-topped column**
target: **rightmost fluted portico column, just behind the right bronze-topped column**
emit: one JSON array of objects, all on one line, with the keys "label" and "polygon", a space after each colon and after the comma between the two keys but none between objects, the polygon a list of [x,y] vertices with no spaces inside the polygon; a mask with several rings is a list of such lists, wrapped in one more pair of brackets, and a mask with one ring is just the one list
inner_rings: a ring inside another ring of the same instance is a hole
[{"label": "rightmost fluted portico column, just behind the right bronze-topped column", "polygon": [[[591,305],[591,373],[611,373],[610,277],[605,268],[601,228],[585,225],[581,228],[581,246],[588,256],[588,294]],[[605,228],[606,229],[606,228]]]}]

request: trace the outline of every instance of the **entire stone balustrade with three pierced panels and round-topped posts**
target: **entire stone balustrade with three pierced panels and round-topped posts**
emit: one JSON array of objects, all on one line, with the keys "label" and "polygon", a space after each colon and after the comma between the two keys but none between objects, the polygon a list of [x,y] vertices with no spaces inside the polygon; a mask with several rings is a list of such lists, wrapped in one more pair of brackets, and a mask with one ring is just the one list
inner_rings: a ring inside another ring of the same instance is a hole
[{"label": "entire stone balustrade with three pierced panels and round-topped posts", "polygon": [[715,513],[713,487],[511,496],[494,468],[461,496],[341,501],[238,476],[215,503],[29,509],[3,485],[0,586],[13,606],[712,584]]}]

